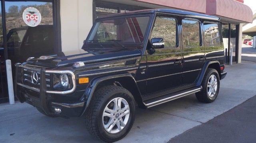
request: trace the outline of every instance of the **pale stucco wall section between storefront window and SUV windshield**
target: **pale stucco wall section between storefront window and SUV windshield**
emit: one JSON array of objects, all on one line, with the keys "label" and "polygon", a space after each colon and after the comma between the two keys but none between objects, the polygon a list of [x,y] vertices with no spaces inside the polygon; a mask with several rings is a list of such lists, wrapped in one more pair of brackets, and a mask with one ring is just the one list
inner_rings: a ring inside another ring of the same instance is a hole
[{"label": "pale stucco wall section between storefront window and SUV windshield", "polygon": [[62,51],[80,50],[92,27],[92,0],[60,0]]}]

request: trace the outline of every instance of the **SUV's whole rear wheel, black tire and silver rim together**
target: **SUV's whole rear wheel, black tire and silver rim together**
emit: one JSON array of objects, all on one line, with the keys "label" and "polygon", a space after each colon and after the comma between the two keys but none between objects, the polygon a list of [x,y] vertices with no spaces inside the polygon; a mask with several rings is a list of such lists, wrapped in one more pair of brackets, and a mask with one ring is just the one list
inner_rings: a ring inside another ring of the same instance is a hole
[{"label": "SUV's whole rear wheel, black tire and silver rim together", "polygon": [[196,93],[200,102],[210,103],[217,98],[220,89],[220,77],[216,69],[208,68],[202,81],[202,91]]}]

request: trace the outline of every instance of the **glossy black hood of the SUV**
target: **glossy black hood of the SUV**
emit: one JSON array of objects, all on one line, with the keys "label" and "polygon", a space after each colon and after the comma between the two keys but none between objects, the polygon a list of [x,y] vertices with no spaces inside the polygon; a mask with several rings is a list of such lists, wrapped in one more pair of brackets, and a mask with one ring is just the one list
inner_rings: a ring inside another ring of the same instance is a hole
[{"label": "glossy black hood of the SUV", "polygon": [[[76,54],[74,54],[76,53]],[[54,67],[72,66],[75,62],[98,63],[104,61],[113,61],[125,58],[132,58],[141,56],[140,50],[127,51],[127,50],[103,50],[97,52],[81,51],[68,51],[62,52],[54,56],[41,56],[39,58],[30,59],[27,63],[48,65]]]}]

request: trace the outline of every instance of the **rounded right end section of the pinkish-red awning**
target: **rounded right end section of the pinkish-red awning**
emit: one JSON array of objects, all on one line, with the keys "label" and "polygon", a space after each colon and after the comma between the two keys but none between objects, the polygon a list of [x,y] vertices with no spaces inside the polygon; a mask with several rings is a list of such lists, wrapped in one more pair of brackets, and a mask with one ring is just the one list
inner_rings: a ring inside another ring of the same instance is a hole
[{"label": "rounded right end section of the pinkish-red awning", "polygon": [[235,0],[206,0],[206,14],[226,21],[252,23],[252,10]]}]

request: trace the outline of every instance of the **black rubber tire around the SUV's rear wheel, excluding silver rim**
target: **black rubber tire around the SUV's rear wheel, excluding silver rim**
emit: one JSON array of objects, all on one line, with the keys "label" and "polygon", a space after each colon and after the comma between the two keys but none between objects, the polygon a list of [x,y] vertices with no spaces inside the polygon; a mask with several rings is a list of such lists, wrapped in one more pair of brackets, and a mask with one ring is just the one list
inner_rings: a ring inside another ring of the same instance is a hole
[{"label": "black rubber tire around the SUV's rear wheel, excluding silver rim", "polygon": [[[208,80],[210,78],[210,76],[215,75],[217,78],[217,90],[214,94],[214,96],[210,97],[208,95]],[[216,69],[212,69],[212,68],[208,68],[205,75],[204,75],[204,79],[202,81],[202,90],[200,92],[196,93],[196,98],[200,101],[200,102],[204,102],[204,103],[211,103],[214,102],[214,100],[217,98],[218,93],[220,90],[220,76],[218,74],[218,71],[216,71]]]}]

